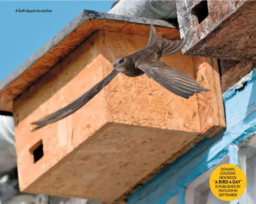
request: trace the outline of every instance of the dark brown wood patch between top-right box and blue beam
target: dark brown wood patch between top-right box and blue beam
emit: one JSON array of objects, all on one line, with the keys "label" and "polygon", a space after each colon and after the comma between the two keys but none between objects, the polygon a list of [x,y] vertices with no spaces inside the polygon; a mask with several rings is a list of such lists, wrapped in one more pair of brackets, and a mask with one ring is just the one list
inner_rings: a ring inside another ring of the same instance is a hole
[{"label": "dark brown wood patch between top-right box and blue beam", "polygon": [[228,90],[255,67],[251,61],[220,60],[221,91]]}]

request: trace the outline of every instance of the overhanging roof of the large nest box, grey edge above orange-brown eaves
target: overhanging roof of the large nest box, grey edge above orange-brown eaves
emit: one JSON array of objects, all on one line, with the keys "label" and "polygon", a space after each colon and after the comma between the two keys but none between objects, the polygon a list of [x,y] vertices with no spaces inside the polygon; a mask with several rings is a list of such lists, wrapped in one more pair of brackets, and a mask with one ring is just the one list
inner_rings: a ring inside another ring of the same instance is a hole
[{"label": "overhanging roof of the large nest box, grey edge above orange-brown eaves", "polygon": [[[0,110],[12,112],[12,101],[97,30],[149,36],[150,24],[168,39],[179,30],[164,20],[127,17],[83,10],[40,50],[0,83]],[[165,27],[162,27],[165,26]]]}]

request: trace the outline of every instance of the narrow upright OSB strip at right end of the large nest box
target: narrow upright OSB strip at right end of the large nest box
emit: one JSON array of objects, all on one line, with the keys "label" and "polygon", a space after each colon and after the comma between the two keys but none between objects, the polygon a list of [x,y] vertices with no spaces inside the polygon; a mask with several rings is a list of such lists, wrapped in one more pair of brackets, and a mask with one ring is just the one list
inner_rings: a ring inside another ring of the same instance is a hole
[{"label": "narrow upright OSB strip at right end of the large nest box", "polygon": [[224,106],[220,87],[220,73],[217,59],[193,57],[196,82],[202,87],[210,87],[210,92],[198,94],[201,131],[207,137],[215,136],[225,128]]}]

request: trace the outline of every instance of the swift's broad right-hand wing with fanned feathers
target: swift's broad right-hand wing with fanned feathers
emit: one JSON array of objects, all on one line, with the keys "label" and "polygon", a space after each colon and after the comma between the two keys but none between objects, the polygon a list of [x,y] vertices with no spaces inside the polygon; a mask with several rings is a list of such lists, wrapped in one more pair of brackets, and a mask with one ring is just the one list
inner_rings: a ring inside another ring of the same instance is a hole
[{"label": "swift's broad right-hand wing with fanned feathers", "polygon": [[209,89],[200,87],[195,82],[195,79],[183,71],[167,66],[160,60],[140,64],[138,68],[143,70],[149,78],[154,79],[154,81],[158,82],[164,88],[180,97],[189,98],[194,93],[210,91]]}]

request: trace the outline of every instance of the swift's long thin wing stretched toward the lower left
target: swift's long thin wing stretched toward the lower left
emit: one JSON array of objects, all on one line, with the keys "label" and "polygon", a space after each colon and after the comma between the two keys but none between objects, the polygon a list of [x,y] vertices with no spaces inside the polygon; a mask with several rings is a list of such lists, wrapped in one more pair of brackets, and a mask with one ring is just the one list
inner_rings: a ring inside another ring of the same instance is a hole
[{"label": "swift's long thin wing stretched toward the lower left", "polygon": [[113,71],[106,76],[102,81],[97,83],[94,87],[92,87],[88,92],[83,94],[81,97],[77,98],[74,102],[70,103],[66,107],[61,108],[60,110],[47,115],[46,117],[41,118],[35,122],[31,122],[32,125],[37,125],[32,131],[35,131],[39,128],[46,126],[47,124],[57,122],[64,117],[69,116],[73,112],[76,112],[79,108],[84,106],[88,101],[90,101],[98,92],[102,90],[103,87],[107,86],[112,79],[117,76],[119,71],[113,69]]}]

